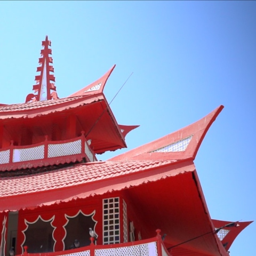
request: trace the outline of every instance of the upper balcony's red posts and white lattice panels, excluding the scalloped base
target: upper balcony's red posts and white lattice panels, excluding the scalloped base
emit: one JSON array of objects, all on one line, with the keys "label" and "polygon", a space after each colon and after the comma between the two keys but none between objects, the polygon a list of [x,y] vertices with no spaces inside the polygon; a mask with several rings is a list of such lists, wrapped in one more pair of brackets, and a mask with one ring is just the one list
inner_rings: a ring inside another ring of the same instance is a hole
[{"label": "upper balcony's red posts and white lattice panels, excluding the scalloped base", "polygon": [[97,161],[84,132],[81,137],[66,141],[48,141],[46,137],[44,142],[33,146],[13,146],[12,142],[9,148],[0,150],[0,166],[73,155],[85,155],[90,162]]}]

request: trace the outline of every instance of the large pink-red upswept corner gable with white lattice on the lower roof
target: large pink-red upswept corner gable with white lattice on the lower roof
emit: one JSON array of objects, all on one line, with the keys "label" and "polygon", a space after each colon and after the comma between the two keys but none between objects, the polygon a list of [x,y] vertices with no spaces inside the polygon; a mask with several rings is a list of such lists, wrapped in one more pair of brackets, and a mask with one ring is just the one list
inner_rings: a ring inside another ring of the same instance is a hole
[{"label": "large pink-red upswept corner gable with white lattice on the lower roof", "polygon": [[224,107],[221,105],[199,121],[153,142],[110,158],[109,161],[139,159],[195,159],[206,132]]}]

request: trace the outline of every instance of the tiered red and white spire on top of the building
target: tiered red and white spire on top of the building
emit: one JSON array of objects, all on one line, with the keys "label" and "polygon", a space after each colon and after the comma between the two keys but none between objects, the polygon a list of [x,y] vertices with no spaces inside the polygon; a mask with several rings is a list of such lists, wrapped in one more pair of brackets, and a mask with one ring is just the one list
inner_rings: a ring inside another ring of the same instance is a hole
[{"label": "tiered red and white spire on top of the building", "polygon": [[40,72],[40,74],[35,77],[36,84],[33,85],[35,94],[28,94],[26,102],[58,99],[56,87],[54,83],[52,83],[55,82],[55,77],[53,74],[50,74],[50,72],[54,72],[54,69],[53,66],[50,66],[52,57],[49,55],[52,54],[52,49],[49,48],[49,46],[51,46],[51,41],[48,40],[48,36],[45,37],[42,46],[41,58],[39,58],[39,65],[41,66],[37,67],[36,70],[37,72]]}]

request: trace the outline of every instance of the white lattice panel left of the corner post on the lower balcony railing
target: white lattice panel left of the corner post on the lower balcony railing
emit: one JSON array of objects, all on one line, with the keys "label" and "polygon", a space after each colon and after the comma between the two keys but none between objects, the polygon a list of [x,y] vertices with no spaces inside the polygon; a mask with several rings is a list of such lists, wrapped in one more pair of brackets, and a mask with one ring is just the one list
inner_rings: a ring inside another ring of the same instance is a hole
[{"label": "white lattice panel left of the corner post on the lower balcony railing", "polygon": [[97,249],[95,250],[95,256],[156,256],[157,249],[156,243],[139,244],[133,246],[125,246],[111,249]]}]

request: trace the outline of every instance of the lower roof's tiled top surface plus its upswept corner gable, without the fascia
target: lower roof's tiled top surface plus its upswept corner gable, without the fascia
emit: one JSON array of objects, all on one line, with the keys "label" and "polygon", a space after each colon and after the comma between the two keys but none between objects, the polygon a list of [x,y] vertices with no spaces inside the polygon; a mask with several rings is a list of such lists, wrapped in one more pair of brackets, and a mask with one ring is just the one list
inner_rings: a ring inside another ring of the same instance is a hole
[{"label": "lower roof's tiled top surface plus its upswept corner gable, without the fascia", "polygon": [[[102,179],[107,181],[110,178],[126,177],[134,173],[145,173],[146,170],[155,170],[163,166],[168,166],[167,168],[171,168],[173,172],[173,170],[178,168],[177,166],[180,166],[180,163],[184,167],[184,161],[189,161],[188,166],[193,166],[189,171],[194,171],[195,167],[191,161],[193,161],[206,131],[222,108],[223,106],[220,106],[192,125],[150,142],[145,146],[111,158],[107,162],[76,164],[51,172],[2,178],[0,180],[1,193],[3,193],[1,196],[5,198],[5,196],[26,194],[27,197],[27,193],[53,191],[61,188],[67,189],[68,187],[85,185],[90,182],[97,183],[97,181]],[[169,169],[167,170],[169,171]],[[160,177],[162,178],[162,175]],[[49,182],[50,180],[51,182]],[[95,193],[95,189],[93,191]],[[39,202],[34,206],[37,204]],[[0,210],[1,207],[6,209],[4,204],[0,203]]]}]

